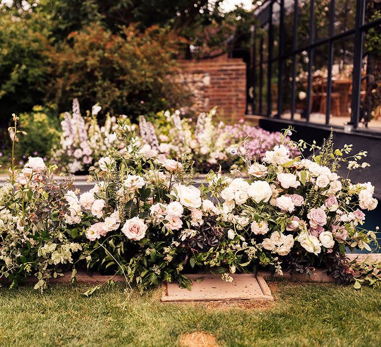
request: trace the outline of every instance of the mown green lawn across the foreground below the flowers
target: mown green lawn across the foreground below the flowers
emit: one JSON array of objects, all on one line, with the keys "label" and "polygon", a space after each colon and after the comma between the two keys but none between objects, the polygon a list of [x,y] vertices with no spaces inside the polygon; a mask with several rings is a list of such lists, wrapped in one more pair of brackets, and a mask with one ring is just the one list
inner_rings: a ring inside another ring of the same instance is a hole
[{"label": "mown green lawn across the foreground below the flowers", "polygon": [[[336,285],[272,282],[275,302],[160,302],[122,285],[92,297],[89,286],[0,289],[0,346],[177,346],[205,331],[222,346],[381,346],[381,292]],[[274,290],[275,289],[275,290]]]}]

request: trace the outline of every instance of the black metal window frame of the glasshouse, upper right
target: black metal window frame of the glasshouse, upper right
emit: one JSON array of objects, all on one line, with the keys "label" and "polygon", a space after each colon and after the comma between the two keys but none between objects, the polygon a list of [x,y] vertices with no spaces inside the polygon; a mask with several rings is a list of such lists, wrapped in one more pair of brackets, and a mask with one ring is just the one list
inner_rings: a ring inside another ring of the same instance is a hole
[{"label": "black metal window frame of the glasshouse, upper right", "polygon": [[[262,15],[262,23],[259,28],[254,28],[254,37],[258,29],[263,30],[264,27],[268,26],[267,35],[267,59],[263,61],[263,38],[260,39],[259,52],[257,52],[256,43],[253,39],[253,45],[255,46],[252,50],[252,54],[256,55],[259,59],[252,59],[251,66],[249,67],[249,74],[251,75],[251,83],[249,86],[253,91],[251,93],[251,98],[248,99],[248,103],[251,103],[251,109],[254,115],[267,116],[270,117],[272,114],[272,98],[271,98],[271,78],[272,78],[272,65],[273,63],[278,64],[278,98],[276,105],[276,114],[273,115],[274,118],[280,118],[282,114],[282,93],[283,93],[283,66],[287,58],[292,58],[292,98],[291,98],[291,118],[287,119],[290,122],[295,122],[299,124],[306,124],[306,121],[310,120],[311,113],[311,101],[312,101],[312,62],[315,49],[322,45],[328,46],[328,62],[327,62],[327,96],[326,96],[326,114],[325,123],[313,123],[316,125],[325,125],[326,127],[342,128],[342,126],[329,124],[330,120],[330,109],[331,109],[331,92],[332,92],[332,64],[333,64],[333,44],[338,42],[338,40],[345,39],[354,36],[354,59],[353,59],[353,72],[352,72],[352,99],[351,99],[351,120],[348,124],[353,127],[353,132],[364,132],[369,135],[381,135],[381,129],[368,129],[359,128],[359,116],[360,116],[360,92],[361,92],[361,70],[363,64],[363,45],[364,45],[364,35],[367,30],[373,27],[381,25],[381,18],[376,19],[372,22],[365,22],[365,7],[366,0],[356,0],[356,14],[355,14],[355,26],[354,28],[347,29],[345,31],[334,33],[334,19],[335,19],[335,0],[330,0],[329,6],[329,28],[328,36],[323,39],[314,41],[314,31],[315,28],[315,3],[318,0],[310,0],[310,32],[309,32],[309,42],[307,45],[298,47],[298,4],[301,0],[294,0],[294,23],[293,23],[293,43],[292,50],[289,52],[284,52],[284,15],[285,15],[285,0],[265,0],[263,4],[255,11],[255,16]],[[274,25],[272,22],[273,17],[273,6],[277,3],[280,6],[280,16],[279,16],[279,49],[277,57],[273,58],[273,34]],[[265,20],[263,20],[263,17]],[[267,18],[267,19],[266,19]],[[296,110],[296,63],[297,55],[302,52],[307,52],[308,54],[308,80],[307,80],[307,105],[306,105],[306,121],[295,120],[295,110]],[[267,66],[267,83],[266,86],[263,85],[263,65]],[[259,72],[259,78],[256,76],[256,72]],[[258,80],[259,79],[259,80]],[[263,104],[263,89],[266,88],[266,110],[264,110]],[[256,95],[256,90],[259,95]],[[249,95],[249,93],[248,93]],[[257,99],[259,97],[259,99]],[[258,103],[258,105],[257,105]],[[249,108],[248,108],[249,109]]]}]

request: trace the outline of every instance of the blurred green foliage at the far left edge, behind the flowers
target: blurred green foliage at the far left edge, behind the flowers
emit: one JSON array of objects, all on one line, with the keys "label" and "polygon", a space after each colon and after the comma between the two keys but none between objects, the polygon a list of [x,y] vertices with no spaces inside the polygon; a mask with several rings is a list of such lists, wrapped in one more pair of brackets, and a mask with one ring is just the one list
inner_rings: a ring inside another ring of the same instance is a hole
[{"label": "blurred green foliage at the far left edge, behind the flowers", "polygon": [[47,32],[37,20],[14,20],[0,11],[0,125],[4,127],[12,113],[30,110],[46,92]]}]

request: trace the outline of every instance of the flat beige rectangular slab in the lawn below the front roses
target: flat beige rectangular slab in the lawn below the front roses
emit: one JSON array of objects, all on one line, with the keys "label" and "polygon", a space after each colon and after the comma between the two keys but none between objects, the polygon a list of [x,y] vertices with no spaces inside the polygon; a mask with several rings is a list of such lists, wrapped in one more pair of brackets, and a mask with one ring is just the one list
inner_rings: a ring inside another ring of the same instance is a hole
[{"label": "flat beige rectangular slab in the lawn below the front roses", "polygon": [[178,283],[163,284],[161,301],[274,300],[261,275],[234,274],[233,282],[222,281],[221,275],[185,276],[192,281],[191,290],[180,288]]}]

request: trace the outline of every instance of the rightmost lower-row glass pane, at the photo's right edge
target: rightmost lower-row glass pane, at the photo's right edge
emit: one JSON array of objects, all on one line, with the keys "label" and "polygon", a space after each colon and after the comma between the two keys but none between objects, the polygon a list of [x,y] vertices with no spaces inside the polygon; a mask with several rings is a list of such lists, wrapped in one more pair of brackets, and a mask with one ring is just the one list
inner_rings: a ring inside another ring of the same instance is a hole
[{"label": "rightmost lower-row glass pane, at the photo's right edge", "polygon": [[381,26],[364,37],[359,127],[381,130]]}]

